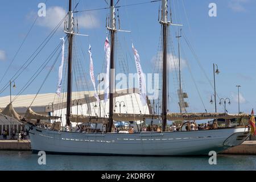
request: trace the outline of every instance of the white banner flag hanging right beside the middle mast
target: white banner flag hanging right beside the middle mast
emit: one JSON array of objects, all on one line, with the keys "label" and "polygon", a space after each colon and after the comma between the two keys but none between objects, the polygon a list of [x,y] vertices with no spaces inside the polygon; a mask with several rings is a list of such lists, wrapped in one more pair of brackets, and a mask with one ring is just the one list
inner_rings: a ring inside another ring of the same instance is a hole
[{"label": "white banner flag hanging right beside the middle mast", "polygon": [[110,68],[110,45],[109,40],[106,38],[105,40],[105,58],[106,58],[106,76],[105,76],[105,84],[104,84],[104,102],[108,100],[109,97],[109,68]]}]

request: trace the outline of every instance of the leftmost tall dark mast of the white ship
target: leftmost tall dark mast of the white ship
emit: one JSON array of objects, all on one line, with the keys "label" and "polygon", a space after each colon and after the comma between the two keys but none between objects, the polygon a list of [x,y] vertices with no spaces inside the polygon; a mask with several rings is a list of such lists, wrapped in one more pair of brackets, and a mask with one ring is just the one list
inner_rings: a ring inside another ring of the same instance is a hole
[{"label": "leftmost tall dark mast of the white ship", "polygon": [[70,114],[71,114],[71,102],[72,102],[72,50],[73,50],[73,12],[72,12],[72,0],[69,0],[69,11],[68,11],[68,88],[67,88],[67,125],[70,125]]}]

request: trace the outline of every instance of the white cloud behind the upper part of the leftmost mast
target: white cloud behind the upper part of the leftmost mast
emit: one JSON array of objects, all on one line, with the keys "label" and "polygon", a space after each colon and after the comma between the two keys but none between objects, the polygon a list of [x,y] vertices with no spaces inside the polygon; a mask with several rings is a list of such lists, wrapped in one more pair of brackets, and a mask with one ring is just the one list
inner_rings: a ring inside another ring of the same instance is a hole
[{"label": "white cloud behind the upper part of the leftmost mast", "polygon": [[[57,26],[57,24],[61,22],[61,20],[63,20],[66,14],[67,14],[67,11],[63,9],[63,7],[60,7],[60,6],[47,7],[46,16],[39,17],[37,24],[42,27],[53,29]],[[31,17],[34,17],[35,15],[36,15],[35,13],[30,13],[28,16],[31,18]],[[76,25],[77,22],[76,22],[75,15],[74,15],[74,19],[75,19],[75,25]],[[98,26],[100,26],[100,22],[97,18],[97,15],[93,13],[80,14],[77,17],[77,19],[79,22],[79,28],[97,28]],[[61,28],[63,27],[64,27],[64,22]]]}]

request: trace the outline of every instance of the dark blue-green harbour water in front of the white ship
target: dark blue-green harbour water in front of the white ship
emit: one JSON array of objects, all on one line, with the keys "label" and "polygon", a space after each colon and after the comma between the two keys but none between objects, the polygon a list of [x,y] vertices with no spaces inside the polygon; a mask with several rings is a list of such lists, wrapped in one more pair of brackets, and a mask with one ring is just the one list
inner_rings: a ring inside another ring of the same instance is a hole
[{"label": "dark blue-green harbour water in front of the white ship", "polygon": [[0,151],[0,170],[256,170],[255,155],[217,155],[217,165],[210,165],[208,156],[129,157],[47,155],[46,165],[38,164],[38,155],[30,151]]}]

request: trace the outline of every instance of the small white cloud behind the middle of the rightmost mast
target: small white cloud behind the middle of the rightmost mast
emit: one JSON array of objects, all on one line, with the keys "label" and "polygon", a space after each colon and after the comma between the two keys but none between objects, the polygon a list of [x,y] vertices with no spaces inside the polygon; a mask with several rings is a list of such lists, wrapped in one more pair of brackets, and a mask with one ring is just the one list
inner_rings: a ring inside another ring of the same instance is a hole
[{"label": "small white cloud behind the middle of the rightmost mast", "polygon": [[[162,53],[158,53],[157,56],[152,57],[152,63],[155,64],[155,66],[158,67],[159,69],[162,69],[163,68]],[[168,66],[169,66],[169,71],[179,70],[179,57],[169,54]],[[180,59],[180,68],[184,69],[185,67],[187,67],[187,61],[184,59]]]}]

